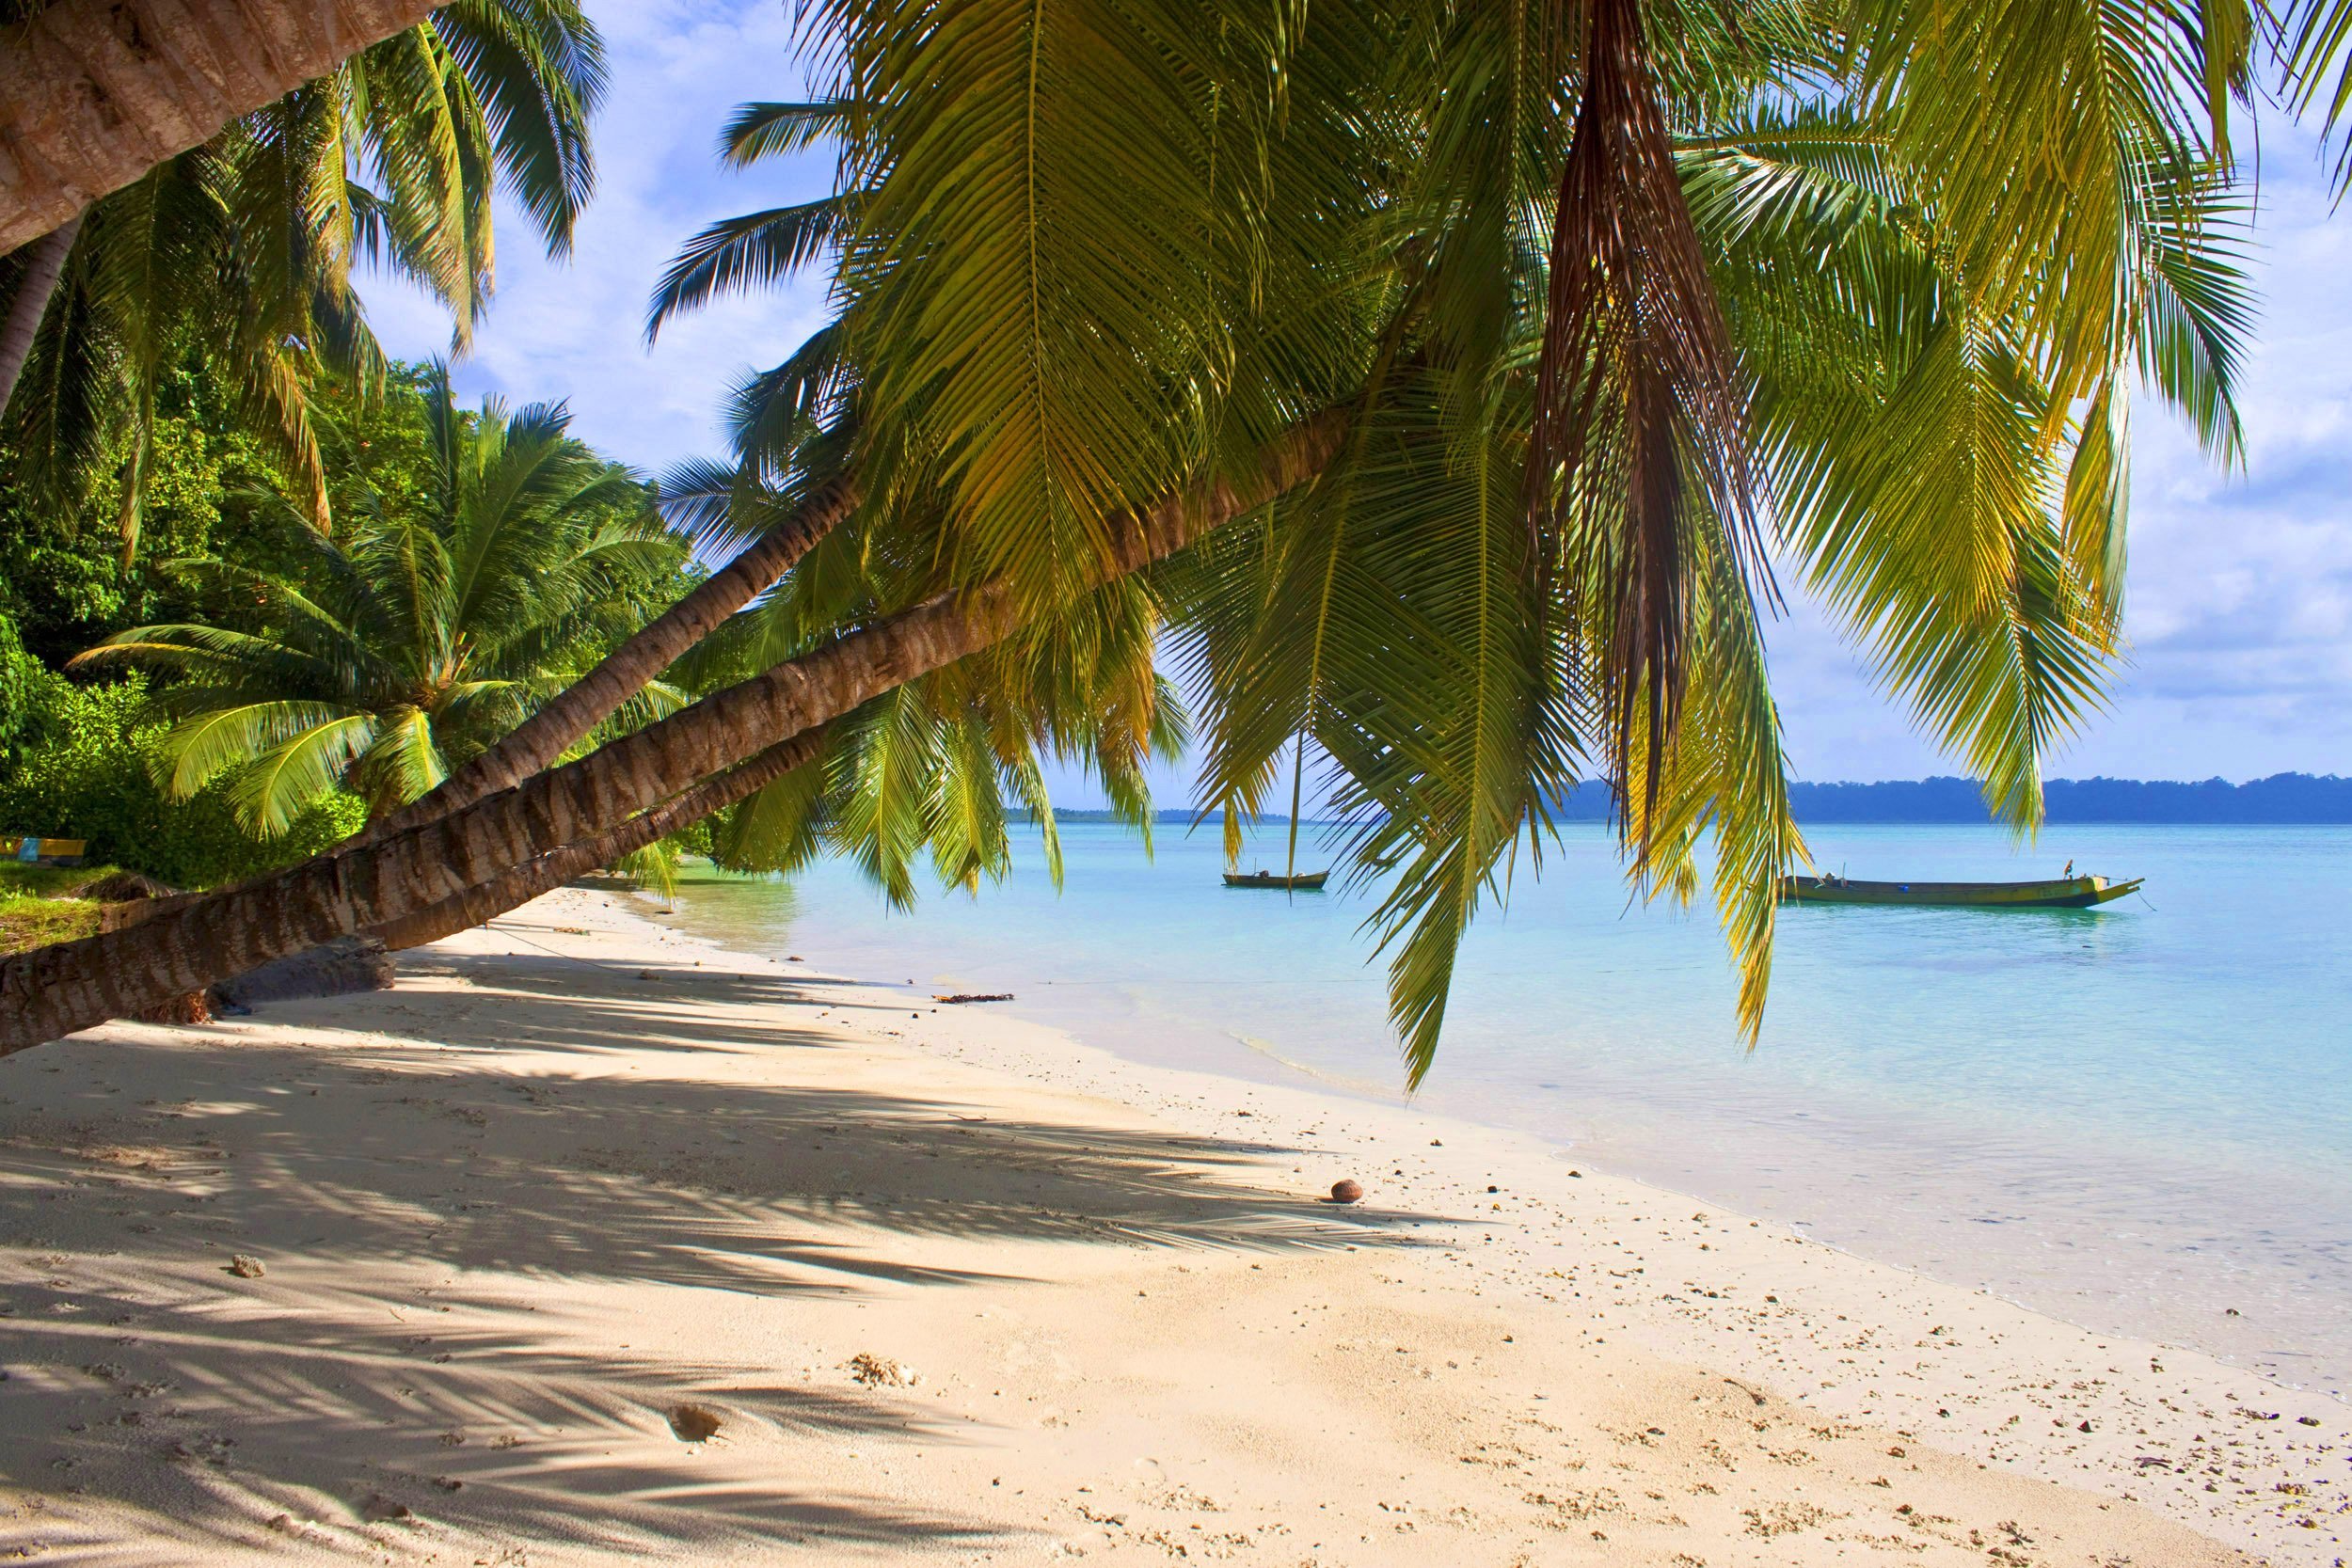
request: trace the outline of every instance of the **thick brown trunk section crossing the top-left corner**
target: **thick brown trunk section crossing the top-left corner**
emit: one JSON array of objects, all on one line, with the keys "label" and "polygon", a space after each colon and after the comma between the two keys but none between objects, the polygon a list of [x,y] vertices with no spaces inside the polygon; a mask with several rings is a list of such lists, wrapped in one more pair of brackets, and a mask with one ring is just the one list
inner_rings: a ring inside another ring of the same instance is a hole
[{"label": "thick brown trunk section crossing the top-left corner", "polygon": [[0,31],[0,254],[435,0],[56,0]]}]

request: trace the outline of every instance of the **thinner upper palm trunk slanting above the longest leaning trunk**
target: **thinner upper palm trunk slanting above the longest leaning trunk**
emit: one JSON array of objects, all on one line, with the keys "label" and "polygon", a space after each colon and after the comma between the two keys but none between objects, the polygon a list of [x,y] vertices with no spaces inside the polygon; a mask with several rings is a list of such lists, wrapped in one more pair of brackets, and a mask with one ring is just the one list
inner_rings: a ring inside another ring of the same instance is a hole
[{"label": "thinner upper palm trunk slanting above the longest leaning trunk", "polygon": [[572,682],[562,696],[517,724],[513,733],[461,766],[430,795],[388,813],[381,823],[372,823],[365,835],[336,853],[376,844],[428,818],[463,811],[546,769],[574,741],[619,712],[621,703],[644,691],[696,642],[715,632],[727,616],[774,588],[856,505],[858,491],[849,480],[821,487],[790,517],[753,541],[722,571],[703,578],[694,592],[616,646],[595,670]]}]

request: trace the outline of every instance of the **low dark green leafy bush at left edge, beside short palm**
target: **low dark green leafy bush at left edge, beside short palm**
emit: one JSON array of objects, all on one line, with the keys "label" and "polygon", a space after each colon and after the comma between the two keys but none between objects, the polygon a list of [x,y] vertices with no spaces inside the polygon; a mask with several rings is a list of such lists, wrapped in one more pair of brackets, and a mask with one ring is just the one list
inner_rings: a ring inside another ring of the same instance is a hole
[{"label": "low dark green leafy bush at left edge, beside short palm", "polygon": [[209,886],[303,860],[353,835],[367,809],[327,795],[285,837],[247,835],[226,785],[174,802],[155,783],[165,726],[148,717],[146,682],[78,686],[33,670],[24,724],[0,766],[0,832],[89,839],[89,860]]}]

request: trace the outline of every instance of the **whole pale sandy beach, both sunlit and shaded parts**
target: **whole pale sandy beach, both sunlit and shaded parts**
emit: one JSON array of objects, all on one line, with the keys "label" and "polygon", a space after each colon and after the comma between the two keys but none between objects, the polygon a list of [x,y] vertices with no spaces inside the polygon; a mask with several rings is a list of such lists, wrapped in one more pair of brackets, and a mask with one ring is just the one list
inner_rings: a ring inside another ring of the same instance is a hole
[{"label": "whole pale sandy beach, both sunlit and shaded parts", "polygon": [[2352,1554],[2321,1394],[630,905],[0,1060],[0,1554]]}]

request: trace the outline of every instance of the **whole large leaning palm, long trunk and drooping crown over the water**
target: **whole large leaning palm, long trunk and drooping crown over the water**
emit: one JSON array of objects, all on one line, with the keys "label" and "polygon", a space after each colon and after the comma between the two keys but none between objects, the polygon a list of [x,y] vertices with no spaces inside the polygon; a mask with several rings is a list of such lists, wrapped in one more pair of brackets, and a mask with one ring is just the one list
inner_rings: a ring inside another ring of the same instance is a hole
[{"label": "whole large leaning palm, long trunk and drooping crown over the water", "polygon": [[2159,12],[814,7],[861,374],[856,503],[795,578],[882,552],[889,597],[365,877],[0,966],[0,1037],[492,884],[1131,592],[1202,677],[1204,806],[1312,738],[1355,875],[1397,867],[1416,1074],[1463,929],[1585,776],[1644,889],[1693,896],[1715,837],[1752,1027],[1802,853],[1766,562],[2023,823],[2117,649],[2124,388],[2232,449],[2213,110],[2251,24]]}]

